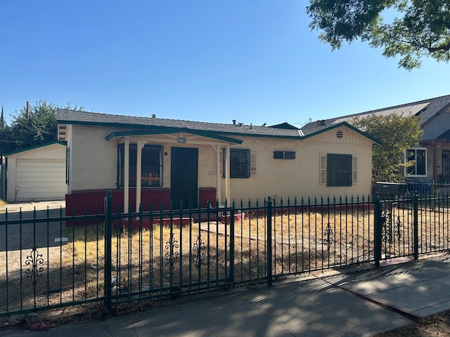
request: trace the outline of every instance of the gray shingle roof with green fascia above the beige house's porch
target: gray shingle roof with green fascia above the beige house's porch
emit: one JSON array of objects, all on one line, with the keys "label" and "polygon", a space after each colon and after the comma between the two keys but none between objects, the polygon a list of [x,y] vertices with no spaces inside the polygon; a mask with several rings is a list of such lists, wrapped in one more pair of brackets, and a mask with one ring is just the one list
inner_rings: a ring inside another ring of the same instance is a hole
[{"label": "gray shingle roof with green fascia above the beige house's porch", "polygon": [[116,114],[99,114],[95,112],[82,112],[75,110],[58,109],[56,119],[59,124],[86,124],[105,126],[119,126],[130,129],[155,129],[155,128],[188,128],[198,131],[213,131],[217,133],[229,133],[241,136],[275,136],[275,137],[299,137],[298,130],[274,128],[255,125],[219,124],[203,121],[184,121],[179,119],[162,119],[151,117],[132,117]]}]

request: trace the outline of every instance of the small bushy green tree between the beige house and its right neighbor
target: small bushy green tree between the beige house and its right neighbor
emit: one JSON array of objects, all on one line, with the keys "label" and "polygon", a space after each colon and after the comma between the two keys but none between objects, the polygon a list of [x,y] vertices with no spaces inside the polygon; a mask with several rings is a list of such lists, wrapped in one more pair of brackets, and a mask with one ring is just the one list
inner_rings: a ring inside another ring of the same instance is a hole
[{"label": "small bushy green tree between the beige house and its right neighbor", "polygon": [[365,117],[354,117],[349,123],[380,142],[380,145],[373,147],[372,179],[404,182],[405,150],[418,146],[423,133],[420,118],[399,114],[369,114]]}]

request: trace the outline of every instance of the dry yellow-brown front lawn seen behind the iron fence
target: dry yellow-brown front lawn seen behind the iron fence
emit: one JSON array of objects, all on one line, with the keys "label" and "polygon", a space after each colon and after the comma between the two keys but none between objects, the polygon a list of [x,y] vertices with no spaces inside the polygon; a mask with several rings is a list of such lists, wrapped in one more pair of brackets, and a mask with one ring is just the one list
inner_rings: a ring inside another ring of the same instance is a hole
[{"label": "dry yellow-brown front lawn seen behind the iron fence", "polygon": [[[411,218],[410,209],[394,209],[388,226],[391,232],[386,234],[391,240],[385,241],[390,254],[411,253]],[[420,232],[425,233],[420,237],[421,249],[449,246],[448,211],[421,210],[419,219]],[[274,227],[275,275],[364,263],[373,258],[373,211],[277,214]],[[218,221],[172,229],[154,225],[152,230],[142,231],[115,227],[113,291],[124,298],[140,292],[138,296],[151,299],[181,287],[195,291],[198,284],[221,284],[231,270],[232,241],[234,281],[257,282],[266,275],[266,219],[250,214],[236,221],[233,237],[229,230],[229,225]],[[26,264],[30,251],[0,252],[0,286],[6,289],[0,292],[0,312],[6,310],[6,303],[11,311],[18,310],[20,303],[23,308],[47,307],[87,303],[103,296],[103,225],[66,227],[65,231],[68,242],[39,249],[41,260],[34,257],[36,267]]]}]

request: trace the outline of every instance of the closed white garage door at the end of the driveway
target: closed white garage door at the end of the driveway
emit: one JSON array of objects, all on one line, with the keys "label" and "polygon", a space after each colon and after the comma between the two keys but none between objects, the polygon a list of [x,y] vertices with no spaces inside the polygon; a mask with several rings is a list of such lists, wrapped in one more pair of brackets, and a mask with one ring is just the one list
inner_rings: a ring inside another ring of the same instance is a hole
[{"label": "closed white garage door at the end of the driveway", "polygon": [[15,171],[15,200],[63,200],[65,160],[18,159]]}]

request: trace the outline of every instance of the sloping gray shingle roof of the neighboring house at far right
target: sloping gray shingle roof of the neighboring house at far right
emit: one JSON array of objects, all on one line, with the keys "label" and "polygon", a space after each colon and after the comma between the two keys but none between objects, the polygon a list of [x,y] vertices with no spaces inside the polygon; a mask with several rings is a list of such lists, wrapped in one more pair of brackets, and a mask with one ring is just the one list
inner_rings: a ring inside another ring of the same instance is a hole
[{"label": "sloping gray shingle roof of the neighboring house at far right", "polygon": [[314,132],[321,131],[325,128],[329,128],[330,125],[332,125],[338,119],[356,117],[356,116],[360,116],[360,115],[364,115],[364,114],[371,114],[371,113],[376,113],[376,112],[383,112],[385,110],[394,110],[394,109],[399,109],[401,107],[408,107],[410,105],[420,105],[423,103],[428,103],[428,105],[426,107],[424,107],[422,110],[420,110],[420,112],[418,112],[418,114],[416,114],[416,115],[422,117],[422,119],[421,119],[422,126],[424,124],[428,123],[428,121],[430,121],[430,119],[432,119],[432,117],[434,117],[435,114],[441,112],[442,110],[446,109],[446,107],[450,106],[450,95],[440,96],[440,97],[436,97],[436,98],[428,98],[428,100],[418,100],[417,102],[405,103],[405,104],[401,104],[401,105],[394,105],[392,107],[384,107],[382,109],[360,112],[358,114],[342,115],[339,117],[324,119],[322,121],[313,121],[313,122],[303,126],[301,128],[301,130],[305,134],[309,134],[311,132],[314,133]]}]

